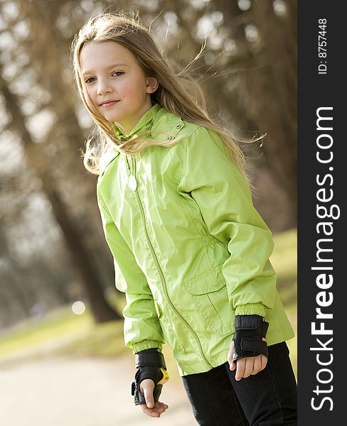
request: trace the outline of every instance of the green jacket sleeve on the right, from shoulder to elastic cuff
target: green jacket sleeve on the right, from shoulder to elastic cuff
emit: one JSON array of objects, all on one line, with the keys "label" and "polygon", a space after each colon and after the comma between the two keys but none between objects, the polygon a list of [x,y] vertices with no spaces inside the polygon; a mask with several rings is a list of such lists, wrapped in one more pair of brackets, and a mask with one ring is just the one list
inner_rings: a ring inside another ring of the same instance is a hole
[{"label": "green jacket sleeve on the right, from shoulder to elastic cuff", "polygon": [[277,291],[269,261],[272,233],[218,133],[198,127],[188,138],[180,186],[198,204],[210,234],[228,246],[230,257],[222,271],[235,315],[265,317],[266,309],[274,307]]}]

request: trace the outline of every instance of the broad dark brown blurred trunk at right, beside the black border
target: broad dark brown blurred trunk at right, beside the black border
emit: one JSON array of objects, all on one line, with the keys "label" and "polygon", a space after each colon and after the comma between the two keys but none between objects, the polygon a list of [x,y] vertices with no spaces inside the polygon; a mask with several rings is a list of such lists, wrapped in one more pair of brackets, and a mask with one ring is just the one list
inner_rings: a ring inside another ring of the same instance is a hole
[{"label": "broad dark brown blurred trunk at right, beside the black border", "polygon": [[[288,4],[293,6],[294,2]],[[296,12],[276,16],[272,0],[252,4],[263,48],[257,55],[262,68],[248,79],[257,124],[269,135],[264,143],[267,162],[287,192],[297,222],[297,52]],[[294,15],[293,15],[294,13]],[[293,224],[295,224],[293,223]]]}]

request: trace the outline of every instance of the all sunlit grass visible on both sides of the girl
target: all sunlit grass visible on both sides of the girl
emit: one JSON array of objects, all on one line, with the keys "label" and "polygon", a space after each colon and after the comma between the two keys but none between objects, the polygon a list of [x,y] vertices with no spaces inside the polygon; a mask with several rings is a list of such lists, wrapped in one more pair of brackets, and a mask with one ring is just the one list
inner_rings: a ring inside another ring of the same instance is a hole
[{"label": "all sunlit grass visible on both sides of the girl", "polygon": [[[297,230],[292,229],[274,235],[272,264],[278,275],[278,288],[294,331],[297,332]],[[112,292],[110,303],[120,311],[123,298]],[[68,356],[117,356],[132,351],[125,348],[122,320],[95,324],[90,309],[82,315],[73,314],[70,306],[49,312],[36,322],[17,324],[11,332],[0,336],[0,358],[68,355]],[[297,338],[287,342],[295,373],[297,373]],[[168,368],[176,374],[176,361],[168,347],[164,355]],[[179,379],[179,378],[178,378]]]}]

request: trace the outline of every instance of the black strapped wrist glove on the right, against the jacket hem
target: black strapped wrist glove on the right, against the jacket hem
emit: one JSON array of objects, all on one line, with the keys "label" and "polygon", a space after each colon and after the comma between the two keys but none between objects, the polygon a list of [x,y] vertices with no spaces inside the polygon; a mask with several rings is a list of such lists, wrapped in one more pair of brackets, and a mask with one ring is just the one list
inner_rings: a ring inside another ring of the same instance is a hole
[{"label": "black strapped wrist glove on the right, against the jacket hem", "polygon": [[268,327],[269,323],[260,315],[236,315],[233,362],[260,354],[267,357],[267,342],[262,338],[266,336]]}]

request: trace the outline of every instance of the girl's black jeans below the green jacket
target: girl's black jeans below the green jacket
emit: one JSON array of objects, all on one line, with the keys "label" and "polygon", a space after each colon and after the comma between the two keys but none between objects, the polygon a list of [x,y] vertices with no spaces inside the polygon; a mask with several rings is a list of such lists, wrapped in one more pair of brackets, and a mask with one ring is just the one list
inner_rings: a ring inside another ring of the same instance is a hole
[{"label": "girl's black jeans below the green jacket", "polygon": [[269,346],[267,366],[240,381],[228,361],[183,376],[193,415],[202,426],[297,426],[297,382],[285,342]]}]

